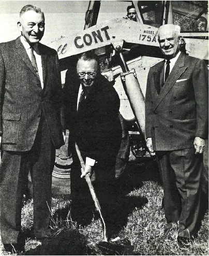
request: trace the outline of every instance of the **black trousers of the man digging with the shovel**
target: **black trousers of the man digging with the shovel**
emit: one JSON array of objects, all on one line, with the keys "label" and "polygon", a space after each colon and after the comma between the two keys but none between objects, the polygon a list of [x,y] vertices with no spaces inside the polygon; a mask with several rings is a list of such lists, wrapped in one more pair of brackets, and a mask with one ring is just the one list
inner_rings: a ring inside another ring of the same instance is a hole
[{"label": "black trousers of the man digging with the shovel", "polygon": [[[87,182],[84,178],[80,177],[81,166],[74,150],[72,150],[72,158],[73,166],[70,171],[70,193],[72,196],[71,209],[73,211],[74,208],[77,207],[77,212],[80,216],[77,214],[75,218],[77,218],[77,221],[80,220],[81,224],[86,225],[86,222],[82,222],[82,217],[87,218],[89,212],[86,211],[93,211],[95,206]],[[115,229],[115,223],[118,217],[118,204],[115,203],[118,200],[115,186],[115,161],[116,155],[112,159],[96,163],[91,179],[101,206],[102,217],[105,220],[108,233]],[[92,216],[86,221],[91,220]]]}]

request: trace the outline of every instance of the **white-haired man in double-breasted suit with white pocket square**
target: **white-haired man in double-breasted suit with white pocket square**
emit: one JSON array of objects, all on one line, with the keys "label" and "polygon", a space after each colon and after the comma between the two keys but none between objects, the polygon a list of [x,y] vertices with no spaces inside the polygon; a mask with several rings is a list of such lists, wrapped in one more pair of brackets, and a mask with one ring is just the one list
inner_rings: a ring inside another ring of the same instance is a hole
[{"label": "white-haired man in double-breasted suit with white pocket square", "polygon": [[146,89],[146,138],[162,172],[165,231],[179,225],[178,242],[196,237],[200,218],[202,153],[208,125],[208,73],[204,61],[180,51],[180,26],[158,31],[165,56],[151,67]]}]

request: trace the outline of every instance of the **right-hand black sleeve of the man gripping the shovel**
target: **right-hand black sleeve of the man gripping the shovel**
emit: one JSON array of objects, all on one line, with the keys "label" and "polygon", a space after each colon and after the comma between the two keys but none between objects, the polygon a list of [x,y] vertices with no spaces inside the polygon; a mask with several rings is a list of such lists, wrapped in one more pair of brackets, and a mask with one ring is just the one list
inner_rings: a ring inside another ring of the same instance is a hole
[{"label": "right-hand black sleeve of the man gripping the shovel", "polygon": [[100,97],[93,118],[88,119],[84,127],[85,141],[80,145],[85,157],[96,161],[112,159],[121,145],[122,130],[118,119],[120,98],[114,88],[105,91]]}]

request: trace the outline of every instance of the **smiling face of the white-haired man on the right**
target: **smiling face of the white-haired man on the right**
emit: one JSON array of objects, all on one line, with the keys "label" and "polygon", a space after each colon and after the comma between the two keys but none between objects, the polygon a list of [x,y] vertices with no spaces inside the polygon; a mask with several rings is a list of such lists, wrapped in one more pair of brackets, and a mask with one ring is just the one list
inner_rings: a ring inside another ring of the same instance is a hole
[{"label": "smiling face of the white-haired man on the right", "polygon": [[160,27],[158,42],[167,60],[173,59],[180,51],[181,36],[177,36],[174,26],[167,27],[165,25]]}]

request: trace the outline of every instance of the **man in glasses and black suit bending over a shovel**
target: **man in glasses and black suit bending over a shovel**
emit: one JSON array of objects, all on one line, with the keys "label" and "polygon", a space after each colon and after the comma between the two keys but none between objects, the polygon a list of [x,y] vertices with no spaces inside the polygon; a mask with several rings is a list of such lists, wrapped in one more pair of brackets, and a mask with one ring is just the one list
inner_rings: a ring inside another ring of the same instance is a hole
[{"label": "man in glasses and black suit bending over a shovel", "polygon": [[[81,177],[90,175],[95,182],[95,190],[110,234],[113,222],[110,211],[114,211],[111,209],[111,198],[114,196],[111,192],[115,179],[116,155],[122,138],[118,119],[120,99],[112,84],[100,74],[96,54],[81,54],[77,69],[74,70],[77,76],[73,76],[71,72],[73,70],[68,69],[64,87],[66,128],[69,129],[69,145],[74,164],[70,173],[71,195],[76,200],[79,194],[81,198],[86,195],[87,184]],[[85,162],[82,175],[74,150],[75,143]]]}]

